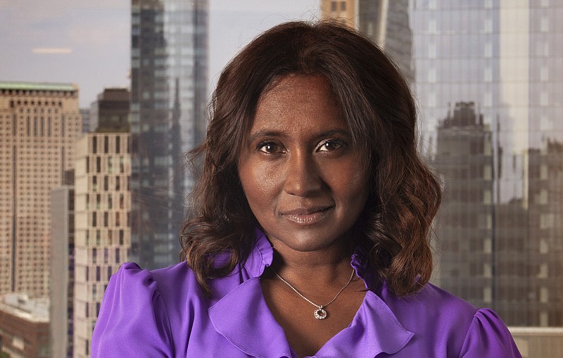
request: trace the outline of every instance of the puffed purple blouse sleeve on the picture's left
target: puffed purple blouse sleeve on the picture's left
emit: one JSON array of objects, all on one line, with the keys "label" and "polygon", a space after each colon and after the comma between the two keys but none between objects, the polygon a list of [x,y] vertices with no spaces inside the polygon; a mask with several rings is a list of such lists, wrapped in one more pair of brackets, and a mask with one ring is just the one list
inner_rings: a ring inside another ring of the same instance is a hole
[{"label": "puffed purple blouse sleeve on the picture's left", "polygon": [[103,295],[91,357],[172,357],[171,337],[151,272],[123,264]]}]

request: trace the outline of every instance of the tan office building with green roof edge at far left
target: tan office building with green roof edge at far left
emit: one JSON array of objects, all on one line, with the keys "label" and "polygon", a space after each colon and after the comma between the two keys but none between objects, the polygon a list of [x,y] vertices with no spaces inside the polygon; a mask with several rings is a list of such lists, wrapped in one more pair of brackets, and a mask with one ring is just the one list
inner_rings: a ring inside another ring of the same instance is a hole
[{"label": "tan office building with green roof edge at far left", "polygon": [[75,85],[0,82],[0,294],[49,295],[51,189],[80,132]]}]

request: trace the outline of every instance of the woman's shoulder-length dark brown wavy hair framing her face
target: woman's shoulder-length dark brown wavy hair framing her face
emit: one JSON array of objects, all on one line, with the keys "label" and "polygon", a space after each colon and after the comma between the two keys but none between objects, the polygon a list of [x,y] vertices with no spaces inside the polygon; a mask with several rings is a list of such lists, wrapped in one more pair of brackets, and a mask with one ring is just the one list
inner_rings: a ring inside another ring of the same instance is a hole
[{"label": "woman's shoulder-length dark brown wavy hair framing her face", "polygon": [[[203,143],[189,153],[199,179],[182,226],[182,260],[206,293],[248,257],[258,225],[237,163],[258,100],[289,74],[329,79],[355,146],[371,168],[372,191],[355,224],[367,264],[396,295],[429,281],[431,222],[441,188],[417,152],[417,112],[403,75],[362,34],[330,22],[290,22],[251,41],[224,68],[209,108]],[[215,260],[227,252],[227,260]],[[379,281],[378,280],[378,281]]]}]

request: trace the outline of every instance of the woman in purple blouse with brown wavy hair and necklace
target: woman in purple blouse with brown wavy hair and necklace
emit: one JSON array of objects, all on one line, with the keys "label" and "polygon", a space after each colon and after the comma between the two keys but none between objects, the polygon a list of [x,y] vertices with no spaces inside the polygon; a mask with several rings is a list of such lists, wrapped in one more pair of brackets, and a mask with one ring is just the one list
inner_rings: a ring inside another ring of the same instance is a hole
[{"label": "woman in purple blouse with brown wavy hair and necklace", "polygon": [[393,63],[286,23],[222,73],[184,260],[124,264],[94,357],[520,357],[502,320],[428,283],[441,191]]}]

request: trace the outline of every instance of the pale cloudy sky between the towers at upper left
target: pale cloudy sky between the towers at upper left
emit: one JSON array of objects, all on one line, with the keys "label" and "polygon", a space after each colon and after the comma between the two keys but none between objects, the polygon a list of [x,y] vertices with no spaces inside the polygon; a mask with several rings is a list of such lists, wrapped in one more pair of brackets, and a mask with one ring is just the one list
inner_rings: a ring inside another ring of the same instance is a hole
[{"label": "pale cloudy sky between the towers at upper left", "polygon": [[[130,0],[0,0],[0,82],[75,83],[80,107],[129,87]],[[209,0],[209,86],[260,32],[319,18],[320,0]]]}]

